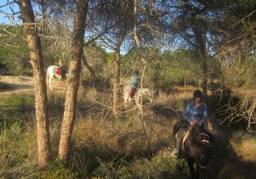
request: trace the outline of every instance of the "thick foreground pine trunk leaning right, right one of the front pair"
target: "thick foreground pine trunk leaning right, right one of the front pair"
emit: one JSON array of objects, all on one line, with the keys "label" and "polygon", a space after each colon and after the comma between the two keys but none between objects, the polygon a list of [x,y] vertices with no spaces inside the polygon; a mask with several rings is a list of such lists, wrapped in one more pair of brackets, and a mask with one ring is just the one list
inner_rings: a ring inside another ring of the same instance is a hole
[{"label": "thick foreground pine trunk leaning right, right one of the front pair", "polygon": [[81,57],[85,37],[85,21],[89,0],[78,0],[76,17],[73,29],[72,51],[70,61],[70,76],[67,81],[67,92],[64,116],[61,125],[58,154],[60,160],[67,164],[67,158],[71,145],[71,134],[75,119],[75,106],[80,80]]}]

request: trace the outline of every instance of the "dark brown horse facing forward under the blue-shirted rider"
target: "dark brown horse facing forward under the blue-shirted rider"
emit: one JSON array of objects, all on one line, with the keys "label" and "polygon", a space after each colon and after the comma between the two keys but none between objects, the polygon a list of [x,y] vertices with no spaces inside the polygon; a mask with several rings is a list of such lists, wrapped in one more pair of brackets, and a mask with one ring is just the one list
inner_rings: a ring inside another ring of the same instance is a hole
[{"label": "dark brown horse facing forward under the blue-shirted rider", "polygon": [[[186,120],[177,122],[173,127],[173,136],[176,142],[175,135]],[[213,136],[204,130],[199,125],[194,125],[188,134],[185,142],[182,144],[182,157],[185,158],[189,167],[189,173],[192,179],[199,179],[207,167],[209,160],[212,157]],[[180,158],[177,159],[177,164],[180,166]],[[196,163],[196,171],[193,164]]]}]

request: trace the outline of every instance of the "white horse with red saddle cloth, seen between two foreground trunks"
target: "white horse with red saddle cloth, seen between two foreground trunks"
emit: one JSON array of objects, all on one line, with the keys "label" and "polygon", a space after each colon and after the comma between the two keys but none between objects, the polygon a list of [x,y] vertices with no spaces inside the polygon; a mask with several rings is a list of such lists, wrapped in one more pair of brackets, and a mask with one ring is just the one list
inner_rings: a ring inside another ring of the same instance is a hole
[{"label": "white horse with red saddle cloth, seen between two foreground trunks", "polygon": [[52,66],[49,66],[48,69],[47,69],[47,73],[46,73],[46,85],[47,87],[50,87],[50,89],[52,90],[52,85],[51,85],[51,82],[52,82],[52,79],[53,77],[57,77],[58,79],[61,79],[61,77],[68,77],[69,76],[69,68],[65,69],[65,68],[62,68],[61,70],[61,75],[58,75],[57,74],[57,71],[59,70],[60,68],[58,66],[55,66],[55,65],[52,65]]}]

